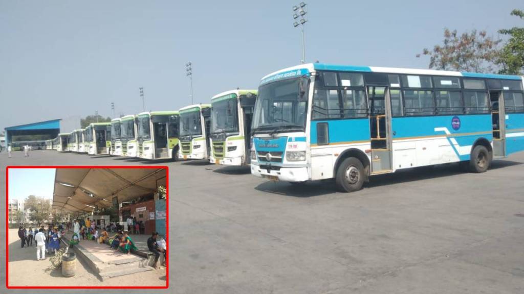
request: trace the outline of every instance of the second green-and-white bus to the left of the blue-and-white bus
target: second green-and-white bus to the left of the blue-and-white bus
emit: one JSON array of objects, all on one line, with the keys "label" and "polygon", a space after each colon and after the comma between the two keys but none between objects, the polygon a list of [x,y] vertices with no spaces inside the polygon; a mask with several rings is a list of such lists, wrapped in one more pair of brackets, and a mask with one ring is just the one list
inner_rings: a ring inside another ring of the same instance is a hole
[{"label": "second green-and-white bus to the left of the blue-and-white bus", "polygon": [[211,104],[195,104],[180,108],[179,159],[209,159]]}]

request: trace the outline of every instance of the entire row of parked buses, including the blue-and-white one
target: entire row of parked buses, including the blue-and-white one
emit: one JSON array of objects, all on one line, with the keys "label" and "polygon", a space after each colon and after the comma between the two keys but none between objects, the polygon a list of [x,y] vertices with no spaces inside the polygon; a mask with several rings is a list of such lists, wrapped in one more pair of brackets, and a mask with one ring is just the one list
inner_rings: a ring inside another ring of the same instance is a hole
[{"label": "entire row of parked buses, including the blue-and-white one", "polygon": [[524,84],[516,75],[302,64],[258,91],[143,112],[60,134],[57,150],[249,164],[258,177],[335,179],[354,191],[373,175],[460,162],[485,172],[524,150]]}]

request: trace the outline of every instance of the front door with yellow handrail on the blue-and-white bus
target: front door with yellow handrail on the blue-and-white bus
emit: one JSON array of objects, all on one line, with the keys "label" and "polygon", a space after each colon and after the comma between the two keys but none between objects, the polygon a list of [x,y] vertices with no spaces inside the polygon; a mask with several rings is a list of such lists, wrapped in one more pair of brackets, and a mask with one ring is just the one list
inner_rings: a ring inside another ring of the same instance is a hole
[{"label": "front door with yellow handrail on the blue-and-white bus", "polygon": [[391,104],[387,86],[367,86],[372,174],[391,171]]}]

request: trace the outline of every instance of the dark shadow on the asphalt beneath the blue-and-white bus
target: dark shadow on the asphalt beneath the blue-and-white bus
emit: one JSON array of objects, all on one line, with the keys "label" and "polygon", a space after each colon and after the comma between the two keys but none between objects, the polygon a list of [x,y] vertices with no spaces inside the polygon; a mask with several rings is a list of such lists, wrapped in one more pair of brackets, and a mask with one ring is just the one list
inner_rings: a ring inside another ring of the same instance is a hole
[{"label": "dark shadow on the asphalt beneath the blue-and-white bus", "polygon": [[[498,169],[520,164],[522,163],[515,161],[497,160],[492,163],[490,169]],[[463,171],[463,168],[458,163],[407,168],[393,174],[372,176],[369,178],[369,183],[364,183],[364,189],[391,184],[414,182],[417,180],[429,178],[449,177],[464,173],[465,172]],[[307,183],[267,181],[256,186],[255,189],[268,193],[292,197],[314,197],[337,192],[334,179]]]}]

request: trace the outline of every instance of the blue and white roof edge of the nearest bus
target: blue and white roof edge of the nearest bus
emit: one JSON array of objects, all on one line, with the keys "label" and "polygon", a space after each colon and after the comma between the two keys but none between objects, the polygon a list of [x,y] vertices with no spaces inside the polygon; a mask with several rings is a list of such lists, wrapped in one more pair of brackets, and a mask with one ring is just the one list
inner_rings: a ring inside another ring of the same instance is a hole
[{"label": "blue and white roof edge of the nearest bus", "polygon": [[456,72],[456,71],[440,71],[427,69],[405,69],[400,67],[379,67],[379,66],[353,66],[353,65],[338,65],[325,63],[308,63],[297,66],[288,67],[276,72],[272,72],[264,76],[260,84],[266,84],[272,81],[280,80],[281,78],[296,77],[308,74],[314,71],[345,71],[345,72],[377,72],[377,73],[395,73],[395,74],[422,74],[422,75],[443,75],[443,76],[463,76],[463,77],[478,77],[478,78],[499,78],[502,80],[519,80],[522,77],[518,75],[505,74],[485,74],[485,73],[470,73],[470,72]]}]

